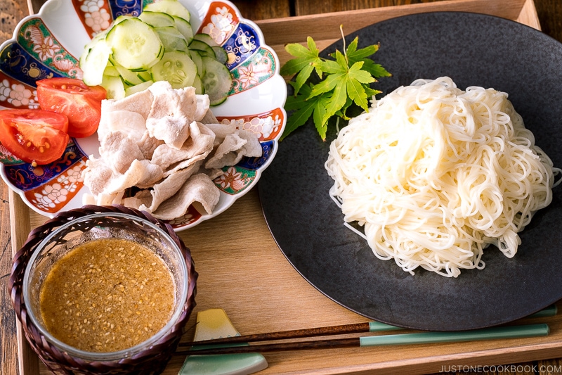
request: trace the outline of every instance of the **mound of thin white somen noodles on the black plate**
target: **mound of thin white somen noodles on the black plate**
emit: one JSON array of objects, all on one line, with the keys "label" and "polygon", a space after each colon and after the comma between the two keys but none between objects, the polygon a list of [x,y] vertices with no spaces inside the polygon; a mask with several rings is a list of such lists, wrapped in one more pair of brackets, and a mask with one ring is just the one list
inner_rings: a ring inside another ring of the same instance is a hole
[{"label": "mound of thin white somen noodles on the black plate", "polygon": [[374,101],[330,145],[325,164],[346,222],[364,226],[378,258],[447,277],[482,269],[493,244],[507,257],[554,174],[507,94],[417,80]]}]

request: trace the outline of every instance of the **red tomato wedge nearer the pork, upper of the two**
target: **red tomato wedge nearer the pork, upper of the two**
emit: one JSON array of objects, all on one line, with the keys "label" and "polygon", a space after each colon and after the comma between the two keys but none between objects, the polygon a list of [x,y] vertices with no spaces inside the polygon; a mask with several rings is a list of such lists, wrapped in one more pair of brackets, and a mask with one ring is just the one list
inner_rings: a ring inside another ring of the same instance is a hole
[{"label": "red tomato wedge nearer the pork, upper of the two", "polygon": [[98,129],[101,101],[107,97],[101,86],[88,86],[74,78],[48,78],[37,81],[37,99],[44,110],[68,117],[68,135],[91,136]]}]

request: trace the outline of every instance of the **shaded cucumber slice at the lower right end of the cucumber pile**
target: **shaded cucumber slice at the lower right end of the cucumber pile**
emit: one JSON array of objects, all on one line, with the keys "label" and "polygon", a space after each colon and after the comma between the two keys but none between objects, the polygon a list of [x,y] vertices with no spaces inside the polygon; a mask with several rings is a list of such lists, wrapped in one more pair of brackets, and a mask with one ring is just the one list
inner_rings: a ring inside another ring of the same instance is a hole
[{"label": "shaded cucumber slice at the lower right end of the cucumber pile", "polygon": [[226,101],[230,88],[233,85],[233,77],[225,65],[214,58],[202,57],[205,74],[201,77],[205,94],[209,95],[211,106]]}]

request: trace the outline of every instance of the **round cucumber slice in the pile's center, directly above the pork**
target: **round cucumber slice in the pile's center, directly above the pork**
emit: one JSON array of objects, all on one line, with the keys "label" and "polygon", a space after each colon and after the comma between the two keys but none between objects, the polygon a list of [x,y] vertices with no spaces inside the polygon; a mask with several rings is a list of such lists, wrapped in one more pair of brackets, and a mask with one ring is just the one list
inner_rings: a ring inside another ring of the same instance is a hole
[{"label": "round cucumber slice in the pile's center, directly above the pork", "polygon": [[197,66],[187,52],[171,51],[164,53],[150,73],[154,82],[168,81],[174,89],[181,89],[192,85],[197,76]]}]

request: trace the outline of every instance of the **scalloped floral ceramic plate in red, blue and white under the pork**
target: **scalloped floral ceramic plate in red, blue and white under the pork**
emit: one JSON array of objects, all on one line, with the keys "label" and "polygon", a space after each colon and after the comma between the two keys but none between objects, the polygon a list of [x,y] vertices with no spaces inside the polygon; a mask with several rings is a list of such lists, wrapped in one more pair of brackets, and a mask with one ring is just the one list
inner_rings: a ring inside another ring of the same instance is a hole
[{"label": "scalloped floral ceramic plate in red, blue and white under the pork", "polygon": [[[78,58],[86,42],[119,15],[138,15],[153,0],[48,0],[37,15],[24,18],[13,39],[0,46],[0,109],[38,108],[37,80],[81,78]],[[213,108],[223,123],[259,134],[261,158],[246,158],[214,180],[221,198],[212,215],[190,208],[171,222],[176,231],[193,227],[232,205],[258,181],[277,152],[285,127],[287,98],[279,60],[259,27],[242,18],[229,1],[181,0],[197,32],[210,34],[228,53],[233,87],[226,102]],[[89,193],[81,179],[88,155],[96,154],[97,135],[71,139],[60,160],[33,167],[0,144],[0,175],[33,210],[47,217],[78,208]]]}]

